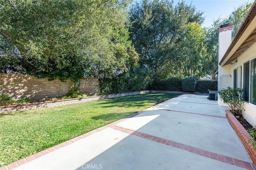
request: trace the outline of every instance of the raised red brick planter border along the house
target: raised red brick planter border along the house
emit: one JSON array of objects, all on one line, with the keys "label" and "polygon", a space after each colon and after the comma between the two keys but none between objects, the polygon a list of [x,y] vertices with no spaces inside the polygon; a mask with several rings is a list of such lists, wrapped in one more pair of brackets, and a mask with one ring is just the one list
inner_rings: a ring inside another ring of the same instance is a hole
[{"label": "raised red brick planter border along the house", "polygon": [[225,112],[231,126],[236,131],[238,137],[242,141],[245,149],[247,150],[250,158],[252,159],[252,162],[256,164],[256,153],[255,153],[254,147],[249,143],[249,139],[252,140],[251,135],[246,131],[246,129],[244,129],[244,127],[236,119],[236,117],[231,113],[230,110],[225,110]]}]

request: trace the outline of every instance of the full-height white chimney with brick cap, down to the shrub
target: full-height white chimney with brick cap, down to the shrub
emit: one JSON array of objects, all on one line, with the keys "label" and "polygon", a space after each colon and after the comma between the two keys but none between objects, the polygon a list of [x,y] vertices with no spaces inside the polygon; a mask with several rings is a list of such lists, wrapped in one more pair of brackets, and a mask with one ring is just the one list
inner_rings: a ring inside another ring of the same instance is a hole
[{"label": "full-height white chimney with brick cap, down to the shrub", "polygon": [[[219,57],[218,63],[220,63],[224,54],[226,53],[231,41],[232,41],[232,29],[233,26],[229,26],[228,23],[220,26],[219,29]],[[232,77],[231,77],[231,67],[230,64],[225,66],[218,65],[218,89],[226,88],[228,86],[232,87]],[[220,106],[227,106],[220,99],[218,95],[218,104]]]}]

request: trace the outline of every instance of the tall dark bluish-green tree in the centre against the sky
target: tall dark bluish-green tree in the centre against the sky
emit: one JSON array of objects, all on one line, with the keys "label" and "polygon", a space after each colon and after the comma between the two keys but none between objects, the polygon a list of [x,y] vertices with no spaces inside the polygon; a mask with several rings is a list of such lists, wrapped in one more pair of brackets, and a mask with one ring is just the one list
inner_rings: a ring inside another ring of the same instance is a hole
[{"label": "tall dark bluish-green tree in the centre against the sky", "polygon": [[203,23],[202,14],[184,1],[176,6],[169,0],[135,3],[130,12],[130,37],[140,54],[140,66],[152,69],[152,76],[160,80],[185,77],[181,69],[181,42],[189,23]]}]

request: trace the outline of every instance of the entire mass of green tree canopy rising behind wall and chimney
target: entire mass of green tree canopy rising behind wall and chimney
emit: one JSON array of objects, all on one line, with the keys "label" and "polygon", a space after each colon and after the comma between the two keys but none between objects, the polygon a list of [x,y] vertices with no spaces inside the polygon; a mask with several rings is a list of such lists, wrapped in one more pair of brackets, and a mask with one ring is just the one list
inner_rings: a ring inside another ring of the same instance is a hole
[{"label": "entire mass of green tree canopy rising behind wall and chimney", "polygon": [[213,75],[220,25],[234,25],[234,37],[251,5],[202,27],[203,12],[185,1],[0,0],[0,72],[103,78],[115,92]]}]

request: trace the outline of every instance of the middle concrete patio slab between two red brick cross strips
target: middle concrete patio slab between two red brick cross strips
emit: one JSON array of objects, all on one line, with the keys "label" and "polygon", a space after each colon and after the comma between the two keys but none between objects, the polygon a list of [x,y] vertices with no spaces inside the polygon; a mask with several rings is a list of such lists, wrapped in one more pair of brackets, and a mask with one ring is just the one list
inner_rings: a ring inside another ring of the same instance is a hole
[{"label": "middle concrete patio slab between two red brick cross strips", "polygon": [[[153,117],[155,118],[148,123],[143,121]],[[251,161],[244,145],[235,131],[230,128],[226,118],[154,110],[118,123],[117,126],[224,156]]]}]

